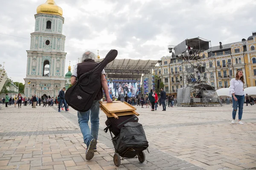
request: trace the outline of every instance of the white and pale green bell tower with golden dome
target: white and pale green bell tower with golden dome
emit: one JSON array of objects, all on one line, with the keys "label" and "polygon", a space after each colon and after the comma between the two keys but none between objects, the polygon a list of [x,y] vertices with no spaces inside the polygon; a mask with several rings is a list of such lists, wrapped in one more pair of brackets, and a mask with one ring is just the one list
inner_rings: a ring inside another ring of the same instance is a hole
[{"label": "white and pale green bell tower with golden dome", "polygon": [[[35,31],[31,33],[27,50],[27,68],[24,93],[26,97],[58,96],[65,87],[65,36],[62,34],[64,17],[54,0],[38,6]],[[29,83],[30,82],[30,83]]]}]

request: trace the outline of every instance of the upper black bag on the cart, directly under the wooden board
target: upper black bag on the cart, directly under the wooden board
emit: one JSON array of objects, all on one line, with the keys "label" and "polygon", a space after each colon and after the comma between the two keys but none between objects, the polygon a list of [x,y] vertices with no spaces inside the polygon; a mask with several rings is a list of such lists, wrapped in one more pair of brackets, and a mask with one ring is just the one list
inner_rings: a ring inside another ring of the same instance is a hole
[{"label": "upper black bag on the cart, directly under the wooden board", "polygon": [[118,136],[120,133],[120,129],[128,122],[138,122],[139,118],[132,115],[126,115],[126,116],[119,116],[118,119],[114,117],[108,117],[105,124],[107,127],[104,129],[104,131],[107,133],[108,129],[114,134],[114,136]]}]

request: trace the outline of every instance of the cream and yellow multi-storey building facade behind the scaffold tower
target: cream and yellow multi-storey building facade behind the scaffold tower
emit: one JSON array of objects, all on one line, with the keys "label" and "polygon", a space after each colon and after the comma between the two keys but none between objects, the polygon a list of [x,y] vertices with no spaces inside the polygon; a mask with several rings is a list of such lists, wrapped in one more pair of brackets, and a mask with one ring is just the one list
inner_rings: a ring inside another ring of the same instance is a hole
[{"label": "cream and yellow multi-storey building facade behind the scaffold tower", "polygon": [[[202,65],[206,68],[201,74],[205,82],[215,88],[229,88],[230,80],[236,76],[236,71],[244,72],[244,88],[256,86],[256,32],[247,40],[213,46],[204,51],[200,61],[185,61],[162,57],[159,66],[154,68],[154,74],[160,77],[165,85],[166,94],[177,96],[177,89],[189,86],[186,82],[186,69],[190,65]],[[182,64],[180,64],[182,63]]]}]

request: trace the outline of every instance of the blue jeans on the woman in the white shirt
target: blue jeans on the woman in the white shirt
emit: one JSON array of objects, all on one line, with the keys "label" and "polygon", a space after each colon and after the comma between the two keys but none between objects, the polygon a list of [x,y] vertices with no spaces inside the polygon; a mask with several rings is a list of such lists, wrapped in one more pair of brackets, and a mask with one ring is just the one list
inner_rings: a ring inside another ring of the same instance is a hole
[{"label": "blue jeans on the woman in the white shirt", "polygon": [[241,120],[243,115],[244,95],[243,96],[235,95],[235,96],[237,98],[237,101],[235,101],[234,97],[232,96],[232,101],[233,101],[232,117],[234,120],[236,119],[236,111],[237,111],[237,108],[239,108],[238,119]]}]

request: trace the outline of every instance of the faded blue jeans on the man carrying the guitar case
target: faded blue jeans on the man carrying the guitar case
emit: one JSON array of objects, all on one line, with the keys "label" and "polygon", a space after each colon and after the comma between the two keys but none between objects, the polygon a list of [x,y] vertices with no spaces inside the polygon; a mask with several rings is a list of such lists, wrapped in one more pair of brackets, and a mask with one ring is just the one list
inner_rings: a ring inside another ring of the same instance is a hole
[{"label": "faded blue jeans on the man carrying the guitar case", "polygon": [[[77,112],[78,123],[81,129],[81,133],[84,136],[84,143],[89,147],[90,141],[92,139],[98,139],[99,133],[99,101],[94,100],[93,105],[89,111]],[[91,122],[91,130],[88,126],[88,122]]]}]

